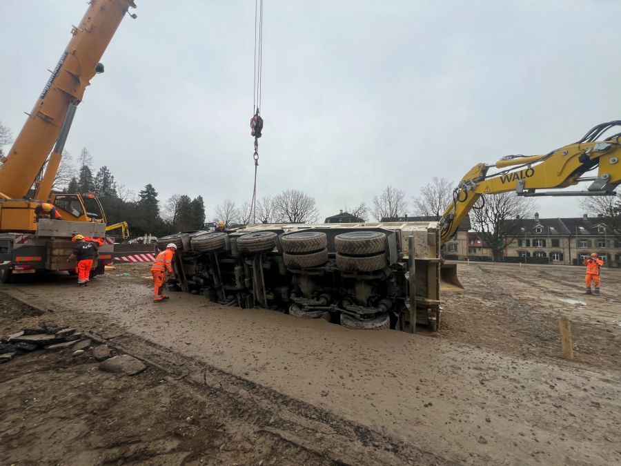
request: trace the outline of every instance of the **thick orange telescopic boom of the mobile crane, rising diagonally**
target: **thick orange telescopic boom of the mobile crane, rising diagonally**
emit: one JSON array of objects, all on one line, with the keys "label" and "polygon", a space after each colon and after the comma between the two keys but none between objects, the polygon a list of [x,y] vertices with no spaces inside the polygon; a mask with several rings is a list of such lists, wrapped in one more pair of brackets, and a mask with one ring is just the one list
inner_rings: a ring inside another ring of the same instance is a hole
[{"label": "thick orange telescopic boom of the mobile crane, rising diagonally", "polygon": [[79,104],[99,60],[133,0],[90,0],[79,27],[41,91],[17,139],[0,166],[0,198],[21,199],[28,193],[59,137],[70,104]]}]

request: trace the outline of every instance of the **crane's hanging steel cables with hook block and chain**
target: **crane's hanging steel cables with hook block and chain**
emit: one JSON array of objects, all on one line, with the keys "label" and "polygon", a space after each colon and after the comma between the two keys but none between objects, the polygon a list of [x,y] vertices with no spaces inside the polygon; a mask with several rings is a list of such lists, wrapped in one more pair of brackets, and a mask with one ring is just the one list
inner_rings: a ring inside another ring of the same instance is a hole
[{"label": "crane's hanging steel cables with hook block and chain", "polygon": [[260,115],[261,88],[263,68],[263,0],[255,0],[255,71],[253,78],[253,117],[250,119],[250,133],[255,137],[255,183],[253,186],[253,200],[250,202],[250,211],[253,223],[257,223],[257,168],[259,167],[259,137],[263,130],[263,119]]}]

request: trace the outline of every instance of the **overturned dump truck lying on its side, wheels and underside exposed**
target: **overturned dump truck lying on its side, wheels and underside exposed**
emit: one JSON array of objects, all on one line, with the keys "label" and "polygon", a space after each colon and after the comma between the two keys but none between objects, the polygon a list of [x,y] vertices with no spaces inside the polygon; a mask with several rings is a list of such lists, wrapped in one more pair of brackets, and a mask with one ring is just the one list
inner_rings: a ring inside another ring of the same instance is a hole
[{"label": "overturned dump truck lying on its side, wheels and underside exposed", "polygon": [[177,233],[173,286],[352,329],[440,327],[437,222],[266,224]]}]

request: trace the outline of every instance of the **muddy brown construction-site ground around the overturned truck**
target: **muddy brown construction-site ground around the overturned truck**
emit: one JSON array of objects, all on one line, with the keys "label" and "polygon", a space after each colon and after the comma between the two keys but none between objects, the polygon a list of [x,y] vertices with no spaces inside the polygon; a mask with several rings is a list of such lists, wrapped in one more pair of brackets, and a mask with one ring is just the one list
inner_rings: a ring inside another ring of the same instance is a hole
[{"label": "muddy brown construction-site ground around the overturned truck", "polygon": [[70,351],[0,366],[0,463],[618,464],[621,271],[595,297],[578,267],[459,270],[442,331],[415,336],[182,293],[153,304],[144,265],[87,289],[5,285],[0,334],[62,322],[148,369],[115,376]]}]

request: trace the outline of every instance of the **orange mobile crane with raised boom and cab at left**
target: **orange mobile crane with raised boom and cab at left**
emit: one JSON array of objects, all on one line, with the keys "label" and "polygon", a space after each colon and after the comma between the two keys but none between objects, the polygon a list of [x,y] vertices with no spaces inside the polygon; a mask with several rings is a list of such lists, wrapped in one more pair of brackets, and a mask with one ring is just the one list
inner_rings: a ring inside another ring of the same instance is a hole
[{"label": "orange mobile crane with raised boom and cab at left", "polygon": [[[1,161],[0,281],[6,281],[10,273],[71,269],[65,255],[72,233],[106,234],[106,215],[97,197],[51,193],[51,188],[76,107],[90,79],[103,72],[99,60],[130,7],[136,8],[133,0],[89,1],[86,14],[79,26],[72,28],[68,46]],[[53,204],[66,221],[37,222],[34,208],[40,202]],[[112,246],[106,244],[100,251],[101,272],[106,260],[112,260]]]}]

